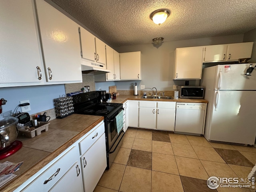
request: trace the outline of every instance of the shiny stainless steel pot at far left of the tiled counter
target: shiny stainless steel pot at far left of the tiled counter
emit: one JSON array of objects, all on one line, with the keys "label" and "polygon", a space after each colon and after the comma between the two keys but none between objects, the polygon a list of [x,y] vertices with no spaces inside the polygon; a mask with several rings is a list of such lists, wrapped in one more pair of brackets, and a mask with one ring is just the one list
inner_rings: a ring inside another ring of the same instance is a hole
[{"label": "shiny stainless steel pot at far left of the tiled counter", "polygon": [[10,146],[16,140],[18,136],[17,122],[17,118],[10,116],[0,120],[0,150]]}]

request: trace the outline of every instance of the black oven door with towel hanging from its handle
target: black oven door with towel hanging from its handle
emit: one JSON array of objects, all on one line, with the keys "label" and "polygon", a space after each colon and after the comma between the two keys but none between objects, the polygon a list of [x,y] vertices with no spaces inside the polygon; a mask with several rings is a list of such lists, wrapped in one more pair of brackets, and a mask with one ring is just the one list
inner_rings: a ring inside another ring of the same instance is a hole
[{"label": "black oven door with towel hanging from its handle", "polygon": [[[110,148],[114,145],[115,141],[118,138],[118,130],[120,130],[119,132],[121,133],[122,131],[122,127],[120,128],[120,125],[123,126],[123,123],[121,122],[117,122],[117,117],[118,116],[122,116],[123,114],[123,108],[121,108],[120,110],[118,110],[118,112],[116,112],[116,114],[114,114],[114,116],[111,119],[107,119],[107,130],[108,130],[108,136],[107,136],[107,140],[108,140],[108,146],[107,146],[107,150],[110,150]],[[120,114],[122,113],[122,114]],[[123,118],[122,118],[123,120]],[[118,127],[119,126],[119,127]]]}]

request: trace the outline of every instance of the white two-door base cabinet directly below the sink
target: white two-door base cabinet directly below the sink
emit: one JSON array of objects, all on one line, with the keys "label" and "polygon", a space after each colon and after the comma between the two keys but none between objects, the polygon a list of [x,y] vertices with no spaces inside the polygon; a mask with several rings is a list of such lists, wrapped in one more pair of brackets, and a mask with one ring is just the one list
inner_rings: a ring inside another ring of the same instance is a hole
[{"label": "white two-door base cabinet directly below the sink", "polygon": [[176,102],[139,102],[139,127],[174,131]]}]

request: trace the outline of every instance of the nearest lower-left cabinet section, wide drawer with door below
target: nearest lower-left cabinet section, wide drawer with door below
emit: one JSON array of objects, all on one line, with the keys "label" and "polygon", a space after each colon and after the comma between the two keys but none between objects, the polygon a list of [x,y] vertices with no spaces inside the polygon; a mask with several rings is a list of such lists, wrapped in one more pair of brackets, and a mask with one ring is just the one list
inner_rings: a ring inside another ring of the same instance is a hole
[{"label": "nearest lower-left cabinet section, wide drawer with door below", "polygon": [[30,182],[30,184],[25,187],[20,186],[15,191],[67,191],[67,189],[73,188],[77,189],[75,190],[77,192],[83,191],[78,144],[74,144],[62,152],[62,154],[47,164],[46,167],[46,170],[39,171],[42,173]]}]

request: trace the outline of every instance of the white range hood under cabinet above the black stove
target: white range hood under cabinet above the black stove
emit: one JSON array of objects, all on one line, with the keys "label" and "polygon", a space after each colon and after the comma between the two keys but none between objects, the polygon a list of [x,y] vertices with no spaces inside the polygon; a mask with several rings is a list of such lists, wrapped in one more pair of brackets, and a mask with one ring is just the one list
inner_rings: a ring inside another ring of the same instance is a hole
[{"label": "white range hood under cabinet above the black stove", "polygon": [[105,69],[105,66],[100,64],[95,64],[91,62],[81,62],[82,74],[104,74],[111,72],[110,70]]}]

